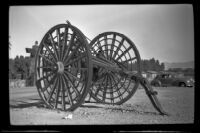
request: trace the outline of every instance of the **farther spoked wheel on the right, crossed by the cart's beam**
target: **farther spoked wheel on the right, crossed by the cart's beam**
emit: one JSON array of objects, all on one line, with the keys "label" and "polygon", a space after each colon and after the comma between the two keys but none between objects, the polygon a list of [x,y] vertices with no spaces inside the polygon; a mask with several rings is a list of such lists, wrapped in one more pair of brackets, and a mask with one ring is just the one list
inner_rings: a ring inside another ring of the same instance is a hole
[{"label": "farther spoked wheel on the right, crossed by the cart's beam", "polygon": [[[124,70],[141,73],[139,52],[125,35],[105,32],[96,36],[90,46],[93,56],[104,56]],[[98,79],[93,83],[90,94],[98,102],[120,105],[130,99],[138,88],[139,82],[131,80],[127,75],[101,66],[94,67],[98,68]]]}]

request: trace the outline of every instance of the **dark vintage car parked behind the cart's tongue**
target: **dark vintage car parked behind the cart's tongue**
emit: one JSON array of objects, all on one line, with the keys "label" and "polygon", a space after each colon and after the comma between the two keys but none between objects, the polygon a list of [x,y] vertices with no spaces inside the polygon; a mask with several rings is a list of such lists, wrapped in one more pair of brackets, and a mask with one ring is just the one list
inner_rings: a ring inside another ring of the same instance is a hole
[{"label": "dark vintage car parked behind the cart's tongue", "polygon": [[192,87],[194,82],[189,77],[178,77],[171,73],[159,74],[151,81],[153,86],[180,86],[180,87]]}]

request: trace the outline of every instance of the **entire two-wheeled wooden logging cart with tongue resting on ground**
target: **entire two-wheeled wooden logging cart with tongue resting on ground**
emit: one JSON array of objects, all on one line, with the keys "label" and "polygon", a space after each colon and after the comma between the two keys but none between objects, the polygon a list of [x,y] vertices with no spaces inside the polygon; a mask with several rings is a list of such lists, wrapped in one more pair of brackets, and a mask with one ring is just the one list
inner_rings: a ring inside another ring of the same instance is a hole
[{"label": "entire two-wheeled wooden logging cart with tongue resting on ground", "polygon": [[88,43],[87,37],[69,22],[58,24],[39,45],[36,87],[48,107],[73,111],[88,93],[97,102],[120,105],[141,84],[154,107],[165,114],[141,76],[140,62],[135,44],[123,34],[104,32]]}]

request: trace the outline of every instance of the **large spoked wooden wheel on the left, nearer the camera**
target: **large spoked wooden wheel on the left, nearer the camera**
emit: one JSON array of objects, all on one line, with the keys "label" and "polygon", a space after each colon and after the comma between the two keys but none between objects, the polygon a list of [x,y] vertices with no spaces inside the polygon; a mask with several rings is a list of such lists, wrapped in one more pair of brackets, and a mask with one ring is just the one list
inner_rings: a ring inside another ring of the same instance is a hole
[{"label": "large spoked wooden wheel on the left, nearer the camera", "polygon": [[83,33],[71,24],[52,27],[36,54],[36,87],[45,104],[73,111],[84,101],[92,78],[91,53]]}]

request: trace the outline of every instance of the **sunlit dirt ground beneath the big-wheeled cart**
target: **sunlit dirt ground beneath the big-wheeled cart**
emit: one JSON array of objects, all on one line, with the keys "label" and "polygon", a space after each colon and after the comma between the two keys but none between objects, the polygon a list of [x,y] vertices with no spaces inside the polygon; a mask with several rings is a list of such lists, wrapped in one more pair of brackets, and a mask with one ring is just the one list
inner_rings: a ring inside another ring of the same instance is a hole
[{"label": "sunlit dirt ground beneath the big-wheeled cart", "polygon": [[[194,122],[194,88],[155,87],[164,110],[153,108],[144,89],[120,106],[84,103],[74,112],[47,109],[35,87],[10,88],[11,125],[185,124]],[[71,117],[71,118],[67,118]]]}]

